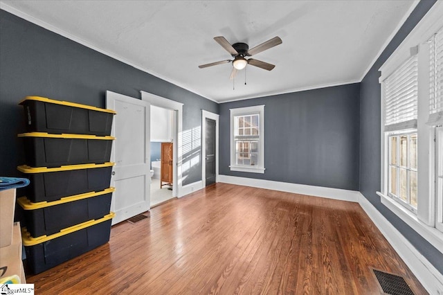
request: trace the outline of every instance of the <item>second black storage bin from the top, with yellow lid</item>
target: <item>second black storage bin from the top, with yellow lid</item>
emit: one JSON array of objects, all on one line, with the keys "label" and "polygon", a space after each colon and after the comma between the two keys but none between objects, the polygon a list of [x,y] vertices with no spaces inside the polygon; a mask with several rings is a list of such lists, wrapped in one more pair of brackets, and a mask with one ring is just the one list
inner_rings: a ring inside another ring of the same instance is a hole
[{"label": "second black storage bin from the top, with yellow lid", "polygon": [[105,163],[111,158],[112,136],[83,134],[19,134],[24,140],[26,165],[60,167],[63,165]]}]

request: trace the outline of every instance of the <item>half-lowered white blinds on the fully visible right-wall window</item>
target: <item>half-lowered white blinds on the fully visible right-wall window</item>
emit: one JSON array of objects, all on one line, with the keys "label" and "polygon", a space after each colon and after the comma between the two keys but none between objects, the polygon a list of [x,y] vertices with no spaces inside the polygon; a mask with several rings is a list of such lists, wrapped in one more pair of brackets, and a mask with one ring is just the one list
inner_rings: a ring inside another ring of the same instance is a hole
[{"label": "half-lowered white blinds on the fully visible right-wall window", "polygon": [[417,128],[418,58],[410,57],[386,78],[385,131]]}]

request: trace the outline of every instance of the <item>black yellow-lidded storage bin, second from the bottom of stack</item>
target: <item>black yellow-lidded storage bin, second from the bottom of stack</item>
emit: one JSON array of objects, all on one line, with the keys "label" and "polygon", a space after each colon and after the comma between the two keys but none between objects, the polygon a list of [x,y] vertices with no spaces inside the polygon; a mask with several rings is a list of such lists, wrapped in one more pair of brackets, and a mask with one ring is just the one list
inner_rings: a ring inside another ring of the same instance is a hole
[{"label": "black yellow-lidded storage bin, second from the bottom of stack", "polygon": [[65,197],[54,202],[30,202],[26,197],[19,197],[24,215],[22,226],[31,237],[52,235],[62,229],[89,220],[98,220],[109,214],[111,209],[111,197],[114,188],[107,188],[97,193],[86,193]]}]

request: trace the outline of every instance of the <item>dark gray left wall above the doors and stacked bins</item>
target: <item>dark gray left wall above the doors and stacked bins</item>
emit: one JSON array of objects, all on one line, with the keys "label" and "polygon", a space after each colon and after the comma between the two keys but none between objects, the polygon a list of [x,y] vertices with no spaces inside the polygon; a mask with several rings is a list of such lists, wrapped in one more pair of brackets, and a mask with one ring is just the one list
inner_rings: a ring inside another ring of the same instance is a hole
[{"label": "dark gray left wall above the doors and stacked bins", "polygon": [[[213,101],[4,10],[0,10],[0,67],[2,176],[18,176],[16,167],[24,163],[17,134],[24,132],[24,115],[18,103],[25,96],[105,107],[107,90],[138,99],[143,90],[183,103],[183,130],[199,129],[201,109],[218,114],[218,105]],[[198,154],[201,163],[201,144],[193,146],[192,157]],[[183,177],[183,184],[201,180],[201,166],[185,171]]]}]

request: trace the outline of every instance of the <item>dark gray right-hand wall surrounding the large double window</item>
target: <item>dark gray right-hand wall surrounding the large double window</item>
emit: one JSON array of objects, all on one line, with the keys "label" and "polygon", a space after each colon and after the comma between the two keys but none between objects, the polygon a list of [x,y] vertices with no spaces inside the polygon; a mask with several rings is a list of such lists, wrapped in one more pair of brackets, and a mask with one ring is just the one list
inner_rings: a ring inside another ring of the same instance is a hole
[{"label": "dark gray right-hand wall surrounding the large double window", "polygon": [[392,52],[401,44],[415,25],[433,6],[435,1],[420,1],[408,17],[405,24],[392,39],[390,44],[381,53],[370,71],[361,81],[360,87],[360,191],[377,210],[400,231],[406,239],[420,252],[433,266],[443,274],[443,254],[429,244],[421,235],[381,204],[376,191],[381,189],[381,89],[379,84],[379,68],[390,57]]}]

